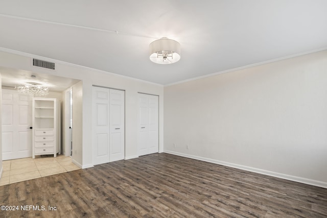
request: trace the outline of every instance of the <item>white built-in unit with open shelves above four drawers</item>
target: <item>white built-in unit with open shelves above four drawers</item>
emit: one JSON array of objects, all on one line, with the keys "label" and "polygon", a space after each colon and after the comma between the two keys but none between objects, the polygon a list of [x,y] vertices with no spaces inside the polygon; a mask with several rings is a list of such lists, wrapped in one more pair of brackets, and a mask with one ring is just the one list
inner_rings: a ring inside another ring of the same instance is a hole
[{"label": "white built-in unit with open shelves above four drawers", "polygon": [[33,158],[60,154],[60,101],[33,98]]}]

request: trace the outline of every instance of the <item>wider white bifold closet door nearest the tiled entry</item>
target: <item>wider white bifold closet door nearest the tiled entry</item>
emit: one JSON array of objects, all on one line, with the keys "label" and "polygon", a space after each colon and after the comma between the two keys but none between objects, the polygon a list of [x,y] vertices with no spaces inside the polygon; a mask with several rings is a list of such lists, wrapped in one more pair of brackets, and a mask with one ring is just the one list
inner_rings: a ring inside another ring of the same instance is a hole
[{"label": "wider white bifold closet door nearest the tiled entry", "polygon": [[94,164],[124,159],[125,155],[125,92],[93,87]]}]

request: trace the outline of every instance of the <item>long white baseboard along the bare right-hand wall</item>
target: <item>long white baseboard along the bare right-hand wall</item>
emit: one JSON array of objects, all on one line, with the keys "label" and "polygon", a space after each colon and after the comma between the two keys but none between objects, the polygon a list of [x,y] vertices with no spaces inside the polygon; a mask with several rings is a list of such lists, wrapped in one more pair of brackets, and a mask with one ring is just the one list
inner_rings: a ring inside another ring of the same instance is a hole
[{"label": "long white baseboard along the bare right-hand wall", "polygon": [[224,166],[230,166],[230,167],[238,168],[238,169],[244,169],[245,171],[250,171],[250,172],[254,172],[254,173],[273,176],[273,177],[286,179],[286,180],[290,180],[290,181],[294,181],[294,182],[300,182],[300,183],[304,183],[304,184],[308,184],[308,185],[314,185],[314,186],[318,186],[318,187],[322,187],[322,188],[327,188],[327,182],[322,182],[322,181],[317,181],[317,180],[312,180],[312,179],[307,179],[307,178],[302,178],[302,177],[296,177],[296,176],[276,173],[276,172],[272,172],[272,171],[266,171],[265,169],[259,169],[259,168],[254,168],[254,167],[249,167],[249,166],[244,166],[244,165],[239,165],[239,164],[234,164],[234,163],[229,163],[229,162],[225,162],[225,161],[219,161],[219,160],[215,160],[215,159],[210,159],[210,158],[205,158],[205,157],[200,157],[200,156],[195,156],[195,155],[189,155],[189,154],[184,154],[184,153],[179,153],[179,152],[174,152],[174,151],[164,151],[164,152],[168,153],[168,154],[181,156],[181,157],[188,157],[191,159],[221,164]]}]

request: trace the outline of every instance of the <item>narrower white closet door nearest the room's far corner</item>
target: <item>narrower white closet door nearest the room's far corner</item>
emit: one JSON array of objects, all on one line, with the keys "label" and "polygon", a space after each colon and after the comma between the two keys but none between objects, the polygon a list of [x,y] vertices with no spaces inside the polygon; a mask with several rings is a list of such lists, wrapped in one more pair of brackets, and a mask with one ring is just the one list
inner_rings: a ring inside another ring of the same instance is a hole
[{"label": "narrower white closet door nearest the room's far corner", "polygon": [[138,93],[138,156],[159,151],[157,95]]}]

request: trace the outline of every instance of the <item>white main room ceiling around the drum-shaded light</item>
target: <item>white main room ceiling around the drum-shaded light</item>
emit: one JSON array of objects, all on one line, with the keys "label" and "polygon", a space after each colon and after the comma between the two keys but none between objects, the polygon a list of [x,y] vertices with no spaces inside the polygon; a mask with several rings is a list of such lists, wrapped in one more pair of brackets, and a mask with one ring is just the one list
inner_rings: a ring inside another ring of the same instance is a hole
[{"label": "white main room ceiling around the drum-shaded light", "polygon": [[[325,0],[0,0],[0,47],[171,84],[327,48]],[[181,44],[169,65],[149,44]]]}]

